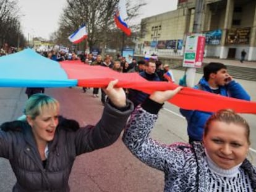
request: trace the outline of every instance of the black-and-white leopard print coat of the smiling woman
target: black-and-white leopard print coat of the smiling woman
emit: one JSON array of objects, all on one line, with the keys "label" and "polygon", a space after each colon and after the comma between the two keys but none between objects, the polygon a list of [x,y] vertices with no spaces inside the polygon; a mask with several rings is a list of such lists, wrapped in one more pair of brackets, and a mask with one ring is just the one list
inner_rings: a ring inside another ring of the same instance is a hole
[{"label": "black-and-white leopard print coat of the smiling woman", "polygon": [[[158,143],[149,138],[157,118],[157,115],[137,107],[122,138],[127,148],[140,161],[164,172],[164,191],[208,192],[210,175],[202,143]],[[245,159],[241,169],[249,173],[252,188],[256,191],[256,168]]]}]

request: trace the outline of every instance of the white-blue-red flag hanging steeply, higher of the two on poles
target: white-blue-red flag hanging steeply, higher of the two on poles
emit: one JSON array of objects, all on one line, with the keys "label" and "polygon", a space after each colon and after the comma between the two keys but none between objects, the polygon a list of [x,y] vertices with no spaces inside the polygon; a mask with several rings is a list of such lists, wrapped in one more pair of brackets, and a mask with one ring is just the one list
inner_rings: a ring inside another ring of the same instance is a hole
[{"label": "white-blue-red flag hanging steeply, higher of the two on poles", "polygon": [[126,1],[120,0],[118,3],[118,7],[116,10],[116,13],[114,14],[114,22],[116,22],[116,26],[120,28],[126,35],[130,36],[130,28],[124,22],[124,20],[127,18],[127,12],[126,12]]}]

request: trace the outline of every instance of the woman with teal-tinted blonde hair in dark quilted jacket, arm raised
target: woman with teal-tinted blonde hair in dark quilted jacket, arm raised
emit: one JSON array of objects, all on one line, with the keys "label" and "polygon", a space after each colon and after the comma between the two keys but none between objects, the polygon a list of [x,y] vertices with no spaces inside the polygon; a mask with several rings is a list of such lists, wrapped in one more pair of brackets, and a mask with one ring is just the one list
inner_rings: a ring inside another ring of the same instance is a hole
[{"label": "woman with teal-tinted blonde hair in dark quilted jacket, arm raised", "polygon": [[27,100],[25,120],[1,125],[0,157],[9,159],[17,178],[13,191],[70,191],[75,157],[113,144],[133,111],[117,81],[105,89],[109,99],[95,126],[60,117],[59,102],[45,94]]}]

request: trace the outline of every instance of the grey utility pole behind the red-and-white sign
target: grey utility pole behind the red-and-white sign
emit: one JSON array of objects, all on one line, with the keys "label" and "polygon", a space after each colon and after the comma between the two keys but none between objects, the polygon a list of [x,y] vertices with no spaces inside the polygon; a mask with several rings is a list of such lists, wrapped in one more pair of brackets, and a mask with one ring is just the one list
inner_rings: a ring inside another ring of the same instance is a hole
[{"label": "grey utility pole behind the red-and-white sign", "polygon": [[[200,33],[202,30],[202,20],[203,20],[203,9],[205,6],[205,0],[195,0],[195,16],[193,24],[193,33]],[[193,87],[195,81],[195,72],[197,69],[195,67],[188,67],[186,71],[186,83],[187,86]]]}]

